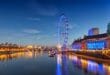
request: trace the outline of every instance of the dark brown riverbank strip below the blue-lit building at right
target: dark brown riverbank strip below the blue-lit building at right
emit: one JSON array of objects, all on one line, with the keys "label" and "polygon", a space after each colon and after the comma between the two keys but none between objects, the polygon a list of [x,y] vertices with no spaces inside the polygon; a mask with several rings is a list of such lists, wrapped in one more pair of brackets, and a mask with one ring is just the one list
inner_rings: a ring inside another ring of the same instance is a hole
[{"label": "dark brown riverbank strip below the blue-lit building at right", "polygon": [[59,52],[62,54],[72,54],[75,56],[78,56],[79,58],[87,59],[87,60],[93,60],[98,63],[107,63],[110,64],[110,58],[104,54],[101,54],[100,52],[80,52],[80,51],[63,51]]}]

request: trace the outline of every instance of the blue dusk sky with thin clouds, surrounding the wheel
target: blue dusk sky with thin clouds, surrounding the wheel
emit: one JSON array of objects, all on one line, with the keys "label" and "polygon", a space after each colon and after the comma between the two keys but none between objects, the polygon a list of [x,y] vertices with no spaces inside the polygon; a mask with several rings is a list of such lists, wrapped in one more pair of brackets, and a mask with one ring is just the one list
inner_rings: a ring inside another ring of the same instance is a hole
[{"label": "blue dusk sky with thin clouds, surrounding the wheel", "polygon": [[0,43],[55,45],[60,14],[69,19],[69,43],[92,27],[105,33],[110,0],[0,0]]}]

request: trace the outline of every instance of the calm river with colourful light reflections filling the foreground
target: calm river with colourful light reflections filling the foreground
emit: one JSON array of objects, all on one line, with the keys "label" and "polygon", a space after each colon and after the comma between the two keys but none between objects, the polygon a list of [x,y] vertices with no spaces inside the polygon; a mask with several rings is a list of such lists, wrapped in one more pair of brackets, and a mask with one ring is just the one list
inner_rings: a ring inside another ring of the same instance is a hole
[{"label": "calm river with colourful light reflections filling the foreground", "polygon": [[110,75],[110,64],[78,58],[73,54],[18,52],[0,55],[0,75]]}]

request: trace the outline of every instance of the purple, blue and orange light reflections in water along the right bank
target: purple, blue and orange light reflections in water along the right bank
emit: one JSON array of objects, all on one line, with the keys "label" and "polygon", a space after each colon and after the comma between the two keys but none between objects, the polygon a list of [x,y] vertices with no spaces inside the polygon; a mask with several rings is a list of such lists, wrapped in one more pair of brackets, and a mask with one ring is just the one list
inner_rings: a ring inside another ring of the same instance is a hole
[{"label": "purple, blue and orange light reflections in water along the right bank", "polygon": [[81,59],[71,54],[69,54],[68,57],[75,67],[82,69],[86,74],[91,73],[92,75],[110,75],[110,65]]}]

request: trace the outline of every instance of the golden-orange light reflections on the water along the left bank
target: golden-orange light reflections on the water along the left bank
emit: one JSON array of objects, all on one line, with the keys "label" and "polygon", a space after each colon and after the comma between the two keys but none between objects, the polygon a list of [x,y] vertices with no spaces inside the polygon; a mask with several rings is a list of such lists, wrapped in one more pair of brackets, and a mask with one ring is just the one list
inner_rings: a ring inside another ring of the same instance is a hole
[{"label": "golden-orange light reflections on the water along the left bank", "polygon": [[37,56],[42,55],[42,51],[28,51],[28,52],[16,52],[9,54],[1,54],[0,61],[8,61],[11,59],[18,59],[20,57],[25,58],[36,58]]}]

